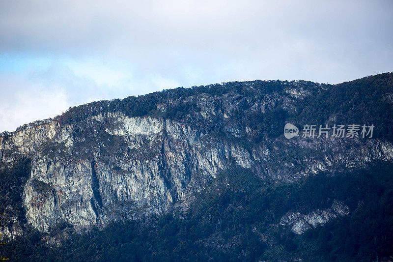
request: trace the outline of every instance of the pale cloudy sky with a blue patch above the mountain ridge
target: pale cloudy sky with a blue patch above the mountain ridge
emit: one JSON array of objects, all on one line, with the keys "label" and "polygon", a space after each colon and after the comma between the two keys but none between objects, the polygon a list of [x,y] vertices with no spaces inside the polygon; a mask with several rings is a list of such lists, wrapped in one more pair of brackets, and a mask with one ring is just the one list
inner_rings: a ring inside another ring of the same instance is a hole
[{"label": "pale cloudy sky with a blue patch above the mountain ridge", "polygon": [[388,71],[391,0],[0,0],[0,132],[164,88]]}]

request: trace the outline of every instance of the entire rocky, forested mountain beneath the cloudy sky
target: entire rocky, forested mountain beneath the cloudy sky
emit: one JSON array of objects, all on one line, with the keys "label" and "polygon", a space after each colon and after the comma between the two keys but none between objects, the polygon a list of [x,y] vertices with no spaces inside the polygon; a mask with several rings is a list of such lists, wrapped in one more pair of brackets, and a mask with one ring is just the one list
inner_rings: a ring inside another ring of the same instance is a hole
[{"label": "entire rocky, forested mountain beneath the cloudy sky", "polygon": [[[92,102],[3,132],[0,255],[387,260],[392,103],[393,73],[229,82]],[[298,136],[284,137],[286,123]]]}]

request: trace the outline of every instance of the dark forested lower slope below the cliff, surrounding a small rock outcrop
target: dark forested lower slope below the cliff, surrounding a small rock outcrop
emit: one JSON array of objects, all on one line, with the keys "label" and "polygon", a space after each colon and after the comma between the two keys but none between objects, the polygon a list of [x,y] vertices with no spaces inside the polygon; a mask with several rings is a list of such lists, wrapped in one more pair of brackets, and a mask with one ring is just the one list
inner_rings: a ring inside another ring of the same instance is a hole
[{"label": "dark forested lower slope below the cliff, surrounding a small rock outcrop", "polygon": [[[30,231],[26,239],[1,246],[0,254],[14,261],[377,260],[393,252],[392,197],[393,169],[383,163],[281,185],[238,168],[221,174],[186,214],[71,233],[51,248]],[[272,226],[288,210],[307,213],[329,207],[333,199],[347,203],[351,214],[301,236]],[[261,233],[271,245],[261,241]]]}]

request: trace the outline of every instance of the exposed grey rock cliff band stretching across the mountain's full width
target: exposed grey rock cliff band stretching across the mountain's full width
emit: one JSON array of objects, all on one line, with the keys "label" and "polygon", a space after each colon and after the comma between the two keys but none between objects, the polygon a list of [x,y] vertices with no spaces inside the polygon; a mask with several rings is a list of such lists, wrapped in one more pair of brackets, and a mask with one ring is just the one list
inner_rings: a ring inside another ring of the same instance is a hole
[{"label": "exposed grey rock cliff band stretching across the mountain's full width", "polygon": [[[55,118],[3,134],[1,165],[12,166],[20,156],[31,159],[22,196],[27,223],[47,232],[60,222],[84,227],[187,207],[195,192],[204,190],[234,165],[251,169],[261,179],[291,182],[320,172],[392,160],[389,141],[332,137],[287,140],[281,123],[277,125],[281,135],[262,136],[255,142],[256,127],[239,118],[296,113],[298,101],[330,87],[278,82],[280,91],[263,92],[254,84],[239,84],[242,92],[256,93],[254,99],[235,91],[220,95],[200,92],[164,99],[144,116],[103,110],[71,123]],[[171,108],[190,103],[196,109],[187,114],[165,115]],[[330,219],[338,211],[324,212]],[[317,216],[314,213],[309,216]],[[306,220],[299,214],[292,214],[292,218],[283,218],[290,222],[282,224],[294,225],[297,233],[309,227],[303,223],[306,226],[297,230],[296,225]],[[17,219],[10,220],[14,223],[4,223],[2,233],[10,238],[23,233]]]}]

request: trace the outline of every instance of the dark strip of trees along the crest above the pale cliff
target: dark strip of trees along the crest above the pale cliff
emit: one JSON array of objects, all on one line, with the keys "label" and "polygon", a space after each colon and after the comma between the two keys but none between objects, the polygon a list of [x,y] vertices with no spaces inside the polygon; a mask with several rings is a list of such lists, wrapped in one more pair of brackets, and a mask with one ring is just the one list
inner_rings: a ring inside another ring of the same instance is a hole
[{"label": "dark strip of trees along the crest above the pale cliff", "polygon": [[[249,92],[243,86],[244,82],[229,82],[225,85],[209,85],[192,88],[177,87],[176,89],[153,92],[138,97],[129,96],[125,99],[114,99],[111,101],[98,101],[85,104],[78,107],[71,107],[67,112],[56,119],[60,123],[78,122],[88,116],[93,116],[104,112],[122,112],[127,116],[145,116],[157,114],[156,105],[167,100],[184,99],[197,94],[207,94],[210,96],[222,96],[225,93],[234,91],[243,96],[250,97],[253,101],[257,100],[255,92]],[[253,87],[261,90],[263,93],[278,92],[282,90],[282,83],[253,81]],[[312,82],[309,82],[310,85]],[[194,113],[199,109],[192,102],[176,103],[170,107],[164,114],[160,115],[166,118],[180,118],[186,114]]]}]

